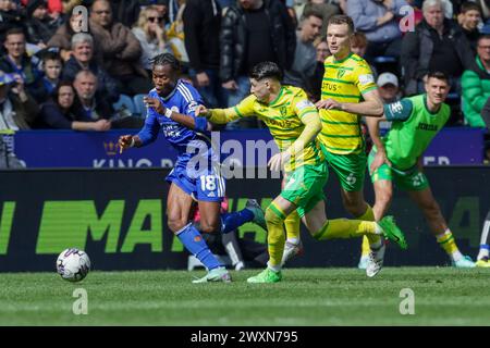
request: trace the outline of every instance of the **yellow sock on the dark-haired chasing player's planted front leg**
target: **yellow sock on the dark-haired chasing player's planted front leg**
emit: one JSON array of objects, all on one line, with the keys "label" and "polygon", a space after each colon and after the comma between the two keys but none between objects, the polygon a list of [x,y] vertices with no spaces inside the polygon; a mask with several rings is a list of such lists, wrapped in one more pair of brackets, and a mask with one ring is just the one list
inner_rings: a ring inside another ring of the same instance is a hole
[{"label": "yellow sock on the dark-haired chasing player's planted front leg", "polygon": [[266,210],[267,223],[267,247],[269,250],[268,265],[274,271],[279,271],[282,261],[282,253],[284,252],[284,220],[286,215],[273,202]]}]

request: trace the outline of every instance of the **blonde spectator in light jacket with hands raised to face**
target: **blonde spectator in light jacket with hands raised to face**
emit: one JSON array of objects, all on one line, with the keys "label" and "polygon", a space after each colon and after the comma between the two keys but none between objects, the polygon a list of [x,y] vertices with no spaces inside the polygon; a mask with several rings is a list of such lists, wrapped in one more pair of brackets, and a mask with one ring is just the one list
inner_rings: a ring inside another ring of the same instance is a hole
[{"label": "blonde spectator in light jacket with hands raised to face", "polygon": [[149,5],[139,12],[138,23],[132,29],[142,46],[139,62],[147,71],[151,71],[151,59],[167,51],[163,27],[163,16]]}]

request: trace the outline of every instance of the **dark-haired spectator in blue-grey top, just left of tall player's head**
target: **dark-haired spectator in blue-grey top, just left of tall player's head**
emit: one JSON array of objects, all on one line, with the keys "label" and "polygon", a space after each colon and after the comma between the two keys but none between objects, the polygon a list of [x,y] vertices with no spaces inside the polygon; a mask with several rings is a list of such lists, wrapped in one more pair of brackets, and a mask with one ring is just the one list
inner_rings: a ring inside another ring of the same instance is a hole
[{"label": "dark-haired spectator in blue-grey top, just left of tall player's head", "polygon": [[322,14],[316,10],[303,12],[301,29],[296,33],[296,50],[291,69],[284,72],[284,84],[308,89],[308,82],[317,66],[317,49],[315,39],[320,35]]}]

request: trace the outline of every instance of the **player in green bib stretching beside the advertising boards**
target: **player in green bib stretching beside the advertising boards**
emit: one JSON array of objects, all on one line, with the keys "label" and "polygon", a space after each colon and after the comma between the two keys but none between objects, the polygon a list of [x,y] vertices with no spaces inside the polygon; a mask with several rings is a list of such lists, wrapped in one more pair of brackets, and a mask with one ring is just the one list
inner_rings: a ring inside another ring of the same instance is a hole
[{"label": "player in green bib stretching beside the advertising boards", "polygon": [[[456,268],[474,268],[469,257],[457,249],[432,191],[421,171],[420,159],[432,138],[442,129],[451,111],[444,103],[449,92],[448,77],[440,72],[429,73],[425,83],[425,95],[404,98],[384,105],[380,119],[366,117],[373,147],[368,158],[368,167],[375,186],[376,221],[388,211],[393,184],[405,190],[424,212],[438,244]],[[391,129],[381,139],[379,122],[392,121]]]}]

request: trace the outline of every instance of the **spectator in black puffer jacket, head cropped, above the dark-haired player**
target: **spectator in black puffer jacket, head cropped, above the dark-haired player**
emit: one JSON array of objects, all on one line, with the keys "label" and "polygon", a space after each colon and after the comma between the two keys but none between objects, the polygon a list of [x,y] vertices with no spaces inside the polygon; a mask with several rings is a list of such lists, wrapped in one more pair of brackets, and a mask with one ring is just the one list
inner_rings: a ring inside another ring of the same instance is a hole
[{"label": "spectator in black puffer jacket, head cropped, above the dark-haired player", "polygon": [[[259,62],[275,62],[281,70],[294,61],[296,35],[286,8],[279,0],[238,0],[221,22],[220,78],[228,105],[237,104],[250,90],[247,73]],[[244,117],[226,127],[256,127]]]}]

